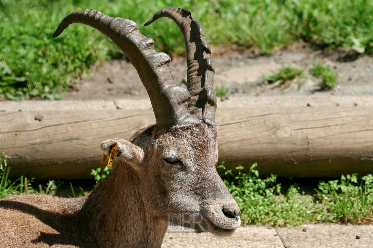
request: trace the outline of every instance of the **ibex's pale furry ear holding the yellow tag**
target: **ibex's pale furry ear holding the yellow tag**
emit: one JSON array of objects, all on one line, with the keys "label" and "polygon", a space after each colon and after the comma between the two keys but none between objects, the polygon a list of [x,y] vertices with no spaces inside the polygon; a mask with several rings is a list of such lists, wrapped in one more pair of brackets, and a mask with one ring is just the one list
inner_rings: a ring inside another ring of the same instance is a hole
[{"label": "ibex's pale furry ear holding the yellow tag", "polygon": [[117,145],[116,156],[131,164],[135,169],[140,169],[144,159],[144,150],[125,139],[110,139],[101,143],[101,150],[105,155],[110,155],[113,146]]}]

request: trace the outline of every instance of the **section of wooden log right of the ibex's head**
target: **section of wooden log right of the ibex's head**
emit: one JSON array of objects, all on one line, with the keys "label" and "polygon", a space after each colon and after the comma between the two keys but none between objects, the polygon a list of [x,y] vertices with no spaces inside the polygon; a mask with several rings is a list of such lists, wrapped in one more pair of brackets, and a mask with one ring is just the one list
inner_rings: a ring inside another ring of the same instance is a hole
[{"label": "section of wooden log right of the ibex's head", "polygon": [[219,112],[227,167],[258,162],[261,176],[340,177],[373,173],[372,107],[291,107]]}]

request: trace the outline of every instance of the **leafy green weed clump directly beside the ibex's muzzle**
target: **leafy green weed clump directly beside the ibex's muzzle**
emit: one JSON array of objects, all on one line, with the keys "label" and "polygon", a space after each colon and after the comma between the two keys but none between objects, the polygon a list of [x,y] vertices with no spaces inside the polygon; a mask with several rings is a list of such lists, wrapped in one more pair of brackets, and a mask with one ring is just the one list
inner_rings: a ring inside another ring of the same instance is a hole
[{"label": "leafy green weed clump directly beside the ibex's muzzle", "polygon": [[301,197],[297,185],[291,185],[285,195],[281,194],[281,184],[276,184],[276,176],[259,178],[253,164],[248,173],[242,173],[242,166],[236,167],[237,175],[224,183],[241,208],[241,221],[246,224],[297,225],[312,221],[315,206],[311,197]]}]

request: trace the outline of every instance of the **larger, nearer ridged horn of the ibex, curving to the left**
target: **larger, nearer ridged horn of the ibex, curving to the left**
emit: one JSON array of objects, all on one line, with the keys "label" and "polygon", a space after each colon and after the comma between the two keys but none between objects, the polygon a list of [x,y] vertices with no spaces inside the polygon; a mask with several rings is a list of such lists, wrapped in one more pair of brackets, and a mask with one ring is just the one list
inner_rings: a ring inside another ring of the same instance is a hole
[{"label": "larger, nearer ridged horn of the ibex, curving to the left", "polygon": [[160,126],[198,125],[200,120],[188,112],[188,91],[176,86],[170,71],[170,57],[156,52],[153,39],[142,35],[132,20],[110,17],[91,10],[79,10],[66,16],[53,38],[59,36],[72,23],[89,25],[108,36],[128,57],[136,68],[150,97],[157,124]]}]

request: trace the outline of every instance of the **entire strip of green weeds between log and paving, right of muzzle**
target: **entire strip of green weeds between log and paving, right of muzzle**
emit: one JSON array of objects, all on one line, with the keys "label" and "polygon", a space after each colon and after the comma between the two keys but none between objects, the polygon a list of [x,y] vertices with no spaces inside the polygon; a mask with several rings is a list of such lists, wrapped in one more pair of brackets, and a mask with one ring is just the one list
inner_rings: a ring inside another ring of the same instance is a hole
[{"label": "entire strip of green weeds between log and paving, right of muzzle", "polygon": [[218,166],[229,192],[241,208],[244,224],[270,224],[294,226],[301,223],[373,221],[373,176],[358,178],[356,174],[342,175],[341,180],[320,181],[314,196],[299,193],[297,184],[291,184],[286,194],[281,193],[281,184],[276,176],[259,178],[253,164],[248,173],[242,166],[238,174]]}]

